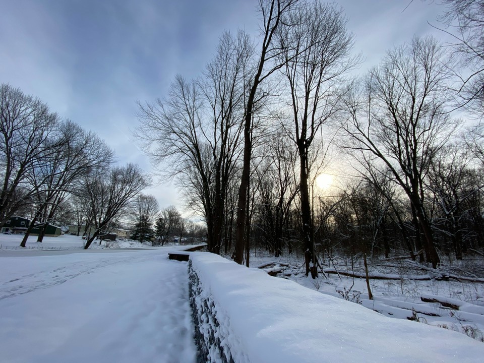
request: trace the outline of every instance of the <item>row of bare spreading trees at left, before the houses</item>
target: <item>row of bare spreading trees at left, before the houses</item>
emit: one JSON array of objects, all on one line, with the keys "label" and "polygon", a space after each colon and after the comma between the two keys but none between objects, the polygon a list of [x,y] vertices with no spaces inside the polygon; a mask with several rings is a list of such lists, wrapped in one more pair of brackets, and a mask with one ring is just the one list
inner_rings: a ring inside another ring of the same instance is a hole
[{"label": "row of bare spreading trees at left, before the houses", "polygon": [[116,165],[113,151],[96,134],[8,84],[0,87],[0,135],[0,226],[15,215],[28,217],[22,247],[34,227],[40,228],[41,242],[51,223],[92,230],[87,249],[119,226],[149,185],[138,165]]}]

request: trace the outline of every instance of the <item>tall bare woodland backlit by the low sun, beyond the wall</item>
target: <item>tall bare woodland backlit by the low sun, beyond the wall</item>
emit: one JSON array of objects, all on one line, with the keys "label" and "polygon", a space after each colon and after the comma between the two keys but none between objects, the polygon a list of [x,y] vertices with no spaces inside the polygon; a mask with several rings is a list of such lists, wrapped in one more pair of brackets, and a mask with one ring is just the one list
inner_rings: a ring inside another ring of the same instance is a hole
[{"label": "tall bare woodland backlit by the low sun, beyond the wall", "polygon": [[[297,248],[316,277],[334,251],[434,267],[482,251],[484,148],[469,120],[482,116],[484,6],[443,3],[441,20],[459,25],[452,47],[409,39],[354,77],[340,8],[262,0],[259,38],[224,33],[197,79],[139,105],[136,136],[154,165],[173,165],[165,176],[205,217],[211,252],[249,264],[251,246]],[[320,195],[335,150],[353,169]]]}]

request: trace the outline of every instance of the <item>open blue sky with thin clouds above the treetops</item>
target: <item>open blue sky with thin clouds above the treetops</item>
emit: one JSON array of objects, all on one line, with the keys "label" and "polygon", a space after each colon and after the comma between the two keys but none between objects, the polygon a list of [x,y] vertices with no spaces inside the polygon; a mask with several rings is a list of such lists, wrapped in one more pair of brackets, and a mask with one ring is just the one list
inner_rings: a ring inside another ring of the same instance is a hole
[{"label": "open blue sky with thin clouds above the treetops", "polygon": [[[151,172],[133,141],[137,101],[163,97],[176,74],[197,77],[223,31],[258,35],[257,0],[0,0],[0,83],[39,97],[62,118],[96,132],[118,162]],[[378,64],[414,35],[442,33],[443,9],[421,0],[336,0],[355,52]],[[156,180],[155,180],[156,181]],[[173,183],[146,191],[160,208],[183,201]]]}]

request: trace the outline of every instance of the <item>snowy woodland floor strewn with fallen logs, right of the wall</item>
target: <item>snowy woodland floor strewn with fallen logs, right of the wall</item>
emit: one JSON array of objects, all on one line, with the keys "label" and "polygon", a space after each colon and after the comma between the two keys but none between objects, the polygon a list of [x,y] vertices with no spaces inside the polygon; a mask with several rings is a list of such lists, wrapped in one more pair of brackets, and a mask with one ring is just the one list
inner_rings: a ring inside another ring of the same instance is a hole
[{"label": "snowy woodland floor strewn with fallen logs, right of the wall", "polygon": [[[323,267],[327,273],[320,274],[316,280],[305,276],[303,256],[289,255],[276,259],[259,251],[251,256],[251,266],[263,267],[266,272],[278,272],[278,277],[293,280],[323,294],[355,302],[388,317],[439,326],[484,341],[482,259],[454,261],[452,266],[447,264],[437,271],[426,270],[425,266],[412,261],[369,259],[370,275],[379,277],[370,279],[373,300],[368,298],[365,278],[352,278],[336,273],[348,272],[365,276],[360,260],[353,261],[353,267],[350,261],[343,259],[326,260]],[[442,275],[455,278],[442,280]],[[468,281],[466,277],[476,282]],[[453,302],[453,305],[460,308],[449,309],[438,302],[422,301],[422,297],[426,300]]]}]

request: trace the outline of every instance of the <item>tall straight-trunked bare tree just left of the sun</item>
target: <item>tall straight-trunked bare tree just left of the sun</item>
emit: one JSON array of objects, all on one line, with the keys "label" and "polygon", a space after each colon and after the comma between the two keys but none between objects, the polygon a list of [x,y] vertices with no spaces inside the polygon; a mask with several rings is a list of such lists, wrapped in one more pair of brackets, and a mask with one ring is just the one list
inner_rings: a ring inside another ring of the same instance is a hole
[{"label": "tall straight-trunked bare tree just left of the sun", "polygon": [[[338,111],[338,83],[354,67],[353,36],[346,19],[334,4],[306,3],[290,13],[292,24],[279,32],[282,72],[286,78],[293,128],[289,131],[299,155],[302,240],[306,275],[318,276],[310,199],[310,152],[322,125]],[[312,263],[312,267],[310,267]]]}]

